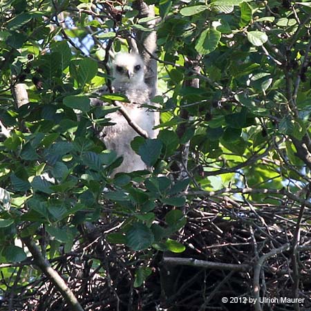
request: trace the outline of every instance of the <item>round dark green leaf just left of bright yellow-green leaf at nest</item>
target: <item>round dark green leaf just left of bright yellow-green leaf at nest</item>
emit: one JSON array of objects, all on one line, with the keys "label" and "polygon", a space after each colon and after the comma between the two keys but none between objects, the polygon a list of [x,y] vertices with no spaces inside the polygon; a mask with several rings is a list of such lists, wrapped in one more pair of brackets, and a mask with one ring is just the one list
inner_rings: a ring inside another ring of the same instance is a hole
[{"label": "round dark green leaf just left of bright yellow-green leaf at nest", "polygon": [[126,233],[126,238],[126,245],[135,251],[147,249],[154,242],[151,229],[142,223],[134,223],[131,229]]}]

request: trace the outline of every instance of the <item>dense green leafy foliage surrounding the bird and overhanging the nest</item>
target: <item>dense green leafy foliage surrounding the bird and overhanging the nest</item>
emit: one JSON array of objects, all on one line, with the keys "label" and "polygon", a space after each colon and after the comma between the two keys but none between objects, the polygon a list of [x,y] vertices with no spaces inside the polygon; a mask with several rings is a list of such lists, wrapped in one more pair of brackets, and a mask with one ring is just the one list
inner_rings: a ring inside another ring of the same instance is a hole
[{"label": "dense green leafy foliage surrounding the bird and overhanging the nest", "polygon": [[[161,124],[158,138],[135,138],[132,147],[153,173],[109,177],[120,158],[96,129],[109,124],[113,100],[126,99],[105,95],[111,105],[99,107],[90,97],[109,82],[109,49],[126,50],[126,38],[152,30],[153,18],[141,17],[136,2],[1,4],[2,296],[17,286],[14,263],[29,265],[26,237],[53,262],[93,243],[90,230],[99,222],[111,223],[101,245],[127,247],[126,265],[139,288],[158,252],[189,248],[177,236],[185,211],[200,209],[202,198],[247,209],[311,207],[308,1],[146,1],[161,18],[153,99]],[[28,93],[22,105],[21,85]],[[180,178],[188,142],[187,178]],[[299,243],[294,232],[310,220],[294,215],[283,217],[297,224],[291,234]],[[92,269],[100,267],[102,277],[108,272],[100,265],[96,258]],[[41,276],[30,268],[19,273],[23,282]]]}]

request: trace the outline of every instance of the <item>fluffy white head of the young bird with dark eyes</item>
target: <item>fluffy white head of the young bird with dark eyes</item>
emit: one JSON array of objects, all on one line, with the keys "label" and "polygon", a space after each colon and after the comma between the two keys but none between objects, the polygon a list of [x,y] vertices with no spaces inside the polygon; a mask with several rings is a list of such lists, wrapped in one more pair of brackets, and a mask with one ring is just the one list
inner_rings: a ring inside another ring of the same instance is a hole
[{"label": "fluffy white head of the young bird with dark eyes", "polygon": [[118,53],[113,60],[114,83],[141,84],[144,82],[144,62],[138,54]]}]

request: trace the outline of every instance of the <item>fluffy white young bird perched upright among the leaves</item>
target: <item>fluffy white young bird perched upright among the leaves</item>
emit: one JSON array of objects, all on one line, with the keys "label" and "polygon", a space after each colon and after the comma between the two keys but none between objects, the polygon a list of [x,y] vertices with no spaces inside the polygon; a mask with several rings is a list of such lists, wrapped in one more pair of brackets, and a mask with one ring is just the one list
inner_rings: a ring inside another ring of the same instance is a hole
[{"label": "fluffy white young bird perched upright among the leaves", "polygon": [[[142,58],[134,53],[118,53],[113,60],[112,70],[114,93],[121,93],[129,100],[129,102],[118,102],[118,104],[124,107],[133,122],[147,131],[149,138],[156,138],[158,131],[153,130],[153,126],[159,124],[159,113],[141,106],[150,104],[149,87],[144,83]],[[122,164],[111,175],[147,169],[140,156],[131,149],[131,141],[138,136],[138,133],[119,111],[110,113],[108,117],[115,124],[104,126],[100,138],[107,149],[114,150],[117,156],[123,157]]]}]

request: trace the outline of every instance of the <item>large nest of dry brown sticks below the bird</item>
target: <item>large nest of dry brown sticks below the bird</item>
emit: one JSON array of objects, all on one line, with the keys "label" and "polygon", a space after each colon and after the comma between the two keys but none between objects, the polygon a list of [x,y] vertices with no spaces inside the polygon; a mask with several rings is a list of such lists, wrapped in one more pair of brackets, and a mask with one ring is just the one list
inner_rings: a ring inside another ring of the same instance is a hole
[{"label": "large nest of dry brown sticks below the bird", "polygon": [[[165,209],[158,209],[159,218]],[[253,205],[227,196],[194,199],[187,225],[174,237],[186,246],[181,254],[111,245],[106,236],[122,218],[107,210],[91,231],[81,229],[71,252],[51,261],[85,311],[311,308],[308,207],[288,200]],[[142,265],[152,274],[135,288]],[[27,269],[34,277],[17,279],[19,294],[4,296],[0,310],[68,311],[50,280],[30,264]]]}]

